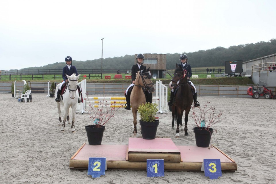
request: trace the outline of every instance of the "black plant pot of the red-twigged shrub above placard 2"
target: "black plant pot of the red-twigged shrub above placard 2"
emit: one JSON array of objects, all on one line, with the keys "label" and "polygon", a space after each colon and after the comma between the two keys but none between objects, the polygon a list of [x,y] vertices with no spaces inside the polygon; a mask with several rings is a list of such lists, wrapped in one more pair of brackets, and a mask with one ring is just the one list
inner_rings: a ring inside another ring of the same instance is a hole
[{"label": "black plant pot of the red-twigged shrub above placard 2", "polygon": [[87,139],[89,145],[100,145],[101,140],[103,139],[105,126],[99,128],[96,125],[87,125],[85,130],[87,133]]}]

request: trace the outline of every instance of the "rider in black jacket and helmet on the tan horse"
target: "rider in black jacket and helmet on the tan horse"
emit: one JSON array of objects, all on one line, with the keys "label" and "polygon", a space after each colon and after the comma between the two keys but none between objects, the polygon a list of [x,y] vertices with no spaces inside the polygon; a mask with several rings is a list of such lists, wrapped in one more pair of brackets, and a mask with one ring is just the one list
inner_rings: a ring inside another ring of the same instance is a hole
[{"label": "rider in black jacket and helmet on the tan horse", "polygon": [[[135,65],[133,65],[132,68],[131,68],[131,81],[132,82],[131,82],[131,85],[129,85],[129,87],[127,88],[127,90],[125,92],[127,104],[124,106],[124,108],[126,110],[130,110],[130,94],[131,94],[131,91],[132,91],[133,86],[135,84],[136,73],[145,68],[145,66],[143,65],[144,59],[145,59],[145,57],[144,57],[143,54],[138,54],[136,56],[137,63]],[[144,90],[144,93],[145,93],[146,101],[152,103],[152,93],[150,93],[147,90]]]}]

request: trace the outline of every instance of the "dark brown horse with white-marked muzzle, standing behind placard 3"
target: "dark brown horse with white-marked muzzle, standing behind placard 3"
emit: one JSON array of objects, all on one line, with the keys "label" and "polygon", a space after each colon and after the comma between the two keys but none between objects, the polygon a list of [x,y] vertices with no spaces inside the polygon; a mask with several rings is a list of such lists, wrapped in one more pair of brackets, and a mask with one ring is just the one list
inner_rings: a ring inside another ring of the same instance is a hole
[{"label": "dark brown horse with white-marked muzzle, standing behind placard 3", "polygon": [[[191,105],[193,104],[193,94],[190,85],[188,84],[188,79],[186,75],[186,70],[182,68],[181,65],[176,64],[176,69],[173,74],[173,78],[169,84],[172,89],[177,89],[172,106],[172,129],[174,129],[174,121],[177,121],[177,129],[175,137],[179,137],[179,125],[182,128],[182,116],[185,110],[185,135],[188,136],[188,115],[191,110]],[[182,128],[183,129],[183,128]],[[181,130],[182,130],[181,129]]]}]

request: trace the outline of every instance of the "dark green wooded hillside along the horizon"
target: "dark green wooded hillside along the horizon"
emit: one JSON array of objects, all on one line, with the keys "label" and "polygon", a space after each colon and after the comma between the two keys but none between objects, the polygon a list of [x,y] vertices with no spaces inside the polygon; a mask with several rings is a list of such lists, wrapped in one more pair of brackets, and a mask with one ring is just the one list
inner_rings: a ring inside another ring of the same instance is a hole
[{"label": "dark green wooded hillside along the horizon", "polygon": [[[179,56],[187,54],[188,62],[191,67],[216,67],[225,66],[225,61],[243,60],[249,61],[266,55],[276,53],[276,39],[267,42],[261,41],[257,43],[248,43],[238,46],[230,46],[229,48],[216,47],[208,50],[199,50],[196,52],[183,53],[167,53],[166,68],[174,69],[175,63],[179,63]],[[150,53],[147,53],[150,54]],[[156,53],[152,53],[156,54]],[[131,69],[135,63],[135,55],[125,55],[121,57],[108,57],[103,59],[104,69]],[[87,61],[75,61],[73,65],[79,69],[101,69],[101,58]],[[22,68],[26,69],[62,69],[65,62],[56,62],[41,67]]]}]

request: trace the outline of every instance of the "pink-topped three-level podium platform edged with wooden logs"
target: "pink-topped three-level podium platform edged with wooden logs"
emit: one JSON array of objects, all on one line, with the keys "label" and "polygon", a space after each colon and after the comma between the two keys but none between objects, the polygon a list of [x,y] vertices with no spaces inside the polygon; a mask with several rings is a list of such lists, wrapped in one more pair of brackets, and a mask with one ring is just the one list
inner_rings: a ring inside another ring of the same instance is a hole
[{"label": "pink-topped three-level podium platform edged with wooden logs", "polygon": [[89,157],[106,157],[108,169],[146,170],[147,159],[164,159],[165,170],[200,171],[203,159],[220,159],[223,172],[235,172],[237,164],[216,147],[175,145],[170,138],[129,138],[129,145],[84,143],[71,157],[69,167],[87,169]]}]

